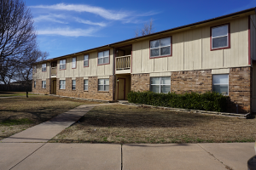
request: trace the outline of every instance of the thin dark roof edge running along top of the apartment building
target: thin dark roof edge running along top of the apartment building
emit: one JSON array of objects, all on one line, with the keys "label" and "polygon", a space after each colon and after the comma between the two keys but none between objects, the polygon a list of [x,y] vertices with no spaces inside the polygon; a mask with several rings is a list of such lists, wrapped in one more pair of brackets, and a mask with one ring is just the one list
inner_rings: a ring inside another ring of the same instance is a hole
[{"label": "thin dark roof edge running along top of the apartment building", "polygon": [[[226,15],[223,15],[223,16],[219,16],[219,17],[216,17],[216,18],[212,18],[210,20],[202,20],[200,22],[195,22],[193,24],[189,24],[189,25],[185,25],[185,26],[178,26],[178,27],[175,27],[175,28],[172,28],[172,29],[169,29],[169,30],[165,30],[165,31],[158,31],[158,32],[155,32],[155,33],[152,33],[152,34],[148,34],[146,36],[141,36],[141,37],[134,37],[134,38],[131,38],[131,39],[126,39],[124,41],[120,41],[120,42],[113,42],[113,43],[110,43],[108,45],[104,45],[104,46],[101,46],[101,47],[97,47],[97,48],[90,48],[90,49],[86,49],[84,51],[80,51],[80,52],[77,52],[77,53],[74,53],[74,54],[67,54],[67,55],[62,55],[60,57],[55,57],[55,58],[52,58],[52,59],[46,59],[44,61],[40,61],[38,63],[44,63],[46,61],[54,61],[56,59],[61,59],[61,58],[65,58],[67,56],[70,56],[70,55],[75,55],[75,54],[81,54],[81,53],[86,53],[86,52],[90,52],[92,50],[96,50],[98,48],[108,48],[108,47],[111,47],[113,45],[117,45],[119,43],[123,43],[123,42],[129,42],[129,41],[134,41],[134,40],[137,40],[137,39],[142,39],[144,37],[152,37],[152,36],[155,36],[155,35],[158,35],[158,34],[162,34],[162,33],[165,33],[165,32],[168,32],[168,31],[176,31],[176,30],[180,30],[180,29],[183,29],[183,28],[187,28],[187,27],[191,27],[191,26],[197,26],[197,25],[201,25],[201,24],[204,24],[204,23],[207,23],[207,22],[212,22],[214,20],[221,20],[221,19],[224,19],[224,18],[228,18],[228,17],[231,17],[231,16],[234,16],[234,15],[237,15],[237,14],[245,14],[245,13],[249,13],[249,12],[256,12],[256,7],[254,8],[247,8],[245,10],[242,10],[242,11],[239,11],[239,12],[236,12],[236,13],[232,13],[232,14],[226,14]],[[38,64],[36,63],[36,64]]]}]

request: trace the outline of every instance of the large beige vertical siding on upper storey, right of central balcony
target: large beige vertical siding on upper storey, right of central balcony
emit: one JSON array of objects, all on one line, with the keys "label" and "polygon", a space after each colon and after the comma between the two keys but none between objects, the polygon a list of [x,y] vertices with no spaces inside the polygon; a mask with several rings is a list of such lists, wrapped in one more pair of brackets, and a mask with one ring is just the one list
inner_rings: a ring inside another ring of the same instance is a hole
[{"label": "large beige vertical siding on upper storey, right of central balcony", "polygon": [[[256,17],[253,20],[256,21]],[[230,24],[230,48],[211,51],[211,26],[166,35],[165,37],[172,36],[170,57],[149,59],[149,39],[133,43],[132,73],[190,71],[248,65],[248,18],[241,17],[212,26],[224,24]]]}]

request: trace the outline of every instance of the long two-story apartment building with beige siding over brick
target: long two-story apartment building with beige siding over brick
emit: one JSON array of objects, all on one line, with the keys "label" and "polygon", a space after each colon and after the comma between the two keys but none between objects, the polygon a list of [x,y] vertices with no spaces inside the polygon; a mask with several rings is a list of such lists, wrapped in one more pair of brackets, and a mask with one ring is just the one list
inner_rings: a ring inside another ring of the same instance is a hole
[{"label": "long two-story apartment building with beige siding over brick", "polygon": [[255,26],[249,8],[44,60],[34,65],[32,92],[119,100],[131,90],[216,91],[230,96],[228,111],[256,111]]}]

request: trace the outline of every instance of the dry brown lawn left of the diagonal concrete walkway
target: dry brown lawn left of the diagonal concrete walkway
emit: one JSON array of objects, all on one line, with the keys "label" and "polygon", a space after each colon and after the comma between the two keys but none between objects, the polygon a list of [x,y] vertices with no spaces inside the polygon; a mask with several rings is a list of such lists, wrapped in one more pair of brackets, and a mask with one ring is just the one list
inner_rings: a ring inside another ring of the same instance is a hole
[{"label": "dry brown lawn left of the diagonal concrete walkway", "polygon": [[0,98],[0,139],[48,121],[79,105],[87,104],[97,103],[46,95],[32,95],[28,98]]}]

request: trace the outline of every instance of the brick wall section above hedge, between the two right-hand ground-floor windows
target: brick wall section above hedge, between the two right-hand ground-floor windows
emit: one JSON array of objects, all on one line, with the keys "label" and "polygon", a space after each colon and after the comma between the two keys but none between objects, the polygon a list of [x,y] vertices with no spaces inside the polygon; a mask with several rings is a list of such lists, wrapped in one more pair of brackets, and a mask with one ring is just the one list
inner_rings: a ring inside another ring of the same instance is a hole
[{"label": "brick wall section above hedge, between the two right-hand ground-floor windows", "polygon": [[205,93],[212,90],[212,71],[177,71],[172,72],[171,91]]}]

